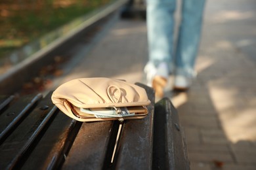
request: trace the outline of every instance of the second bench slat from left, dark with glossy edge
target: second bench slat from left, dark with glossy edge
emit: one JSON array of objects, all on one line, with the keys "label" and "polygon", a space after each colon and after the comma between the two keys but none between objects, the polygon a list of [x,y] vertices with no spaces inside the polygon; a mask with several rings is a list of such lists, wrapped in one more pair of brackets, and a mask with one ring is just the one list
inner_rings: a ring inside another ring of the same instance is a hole
[{"label": "second bench slat from left, dark with glossy edge", "polygon": [[16,124],[18,124],[18,122],[27,115],[26,113],[32,109],[35,103],[37,103],[37,101],[39,101],[42,97],[43,95],[39,93],[35,95],[33,99],[30,99],[30,97],[25,98],[24,100],[21,99],[10,109],[7,109],[3,114],[0,115],[0,143],[6,137],[7,133],[14,129],[14,126],[16,126]]}]

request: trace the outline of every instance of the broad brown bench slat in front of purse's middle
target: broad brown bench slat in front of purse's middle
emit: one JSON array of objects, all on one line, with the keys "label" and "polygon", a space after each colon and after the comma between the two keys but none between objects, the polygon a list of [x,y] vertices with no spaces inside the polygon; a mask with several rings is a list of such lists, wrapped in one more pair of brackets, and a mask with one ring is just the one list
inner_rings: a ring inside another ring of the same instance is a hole
[{"label": "broad brown bench slat in front of purse's middle", "polygon": [[114,121],[83,123],[62,169],[106,169],[118,126]]}]

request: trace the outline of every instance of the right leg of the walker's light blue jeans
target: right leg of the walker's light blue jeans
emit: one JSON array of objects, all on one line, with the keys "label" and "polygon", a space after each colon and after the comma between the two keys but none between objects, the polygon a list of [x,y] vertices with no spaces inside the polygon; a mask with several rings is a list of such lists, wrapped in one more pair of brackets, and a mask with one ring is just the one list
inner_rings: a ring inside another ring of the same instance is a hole
[{"label": "right leg of the walker's light blue jeans", "polygon": [[175,58],[176,75],[195,76],[205,0],[183,0]]}]

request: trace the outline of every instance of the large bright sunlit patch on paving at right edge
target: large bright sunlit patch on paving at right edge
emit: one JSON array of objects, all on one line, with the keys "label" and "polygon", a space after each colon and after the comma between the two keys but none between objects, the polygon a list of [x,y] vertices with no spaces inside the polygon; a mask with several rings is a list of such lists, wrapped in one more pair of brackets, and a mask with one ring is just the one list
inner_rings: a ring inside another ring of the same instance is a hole
[{"label": "large bright sunlit patch on paving at right edge", "polygon": [[247,101],[242,101],[236,88],[213,84],[210,84],[210,95],[226,137],[232,143],[256,141],[256,108],[253,102],[249,105]]}]

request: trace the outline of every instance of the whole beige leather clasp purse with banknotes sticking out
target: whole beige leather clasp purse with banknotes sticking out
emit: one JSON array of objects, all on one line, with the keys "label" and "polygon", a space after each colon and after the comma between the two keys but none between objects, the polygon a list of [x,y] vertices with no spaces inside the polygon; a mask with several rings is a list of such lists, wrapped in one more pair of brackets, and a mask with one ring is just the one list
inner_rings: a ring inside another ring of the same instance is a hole
[{"label": "whole beige leather clasp purse with banknotes sticking out", "polygon": [[52,101],[81,122],[144,118],[150,104],[144,88],[112,78],[78,78],[59,86]]}]

